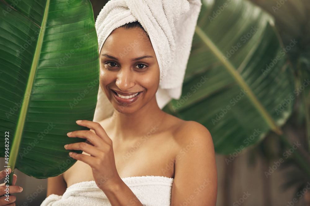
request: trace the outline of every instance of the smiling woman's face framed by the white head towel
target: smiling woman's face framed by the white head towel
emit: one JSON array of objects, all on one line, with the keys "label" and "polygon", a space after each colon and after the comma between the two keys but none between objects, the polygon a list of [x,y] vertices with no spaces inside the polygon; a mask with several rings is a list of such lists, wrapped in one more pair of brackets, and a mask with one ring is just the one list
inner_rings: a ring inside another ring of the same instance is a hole
[{"label": "smiling woman's face framed by the white head towel", "polygon": [[100,86],[121,113],[156,100],[159,66],[144,30],[118,27],[108,36],[100,52]]}]

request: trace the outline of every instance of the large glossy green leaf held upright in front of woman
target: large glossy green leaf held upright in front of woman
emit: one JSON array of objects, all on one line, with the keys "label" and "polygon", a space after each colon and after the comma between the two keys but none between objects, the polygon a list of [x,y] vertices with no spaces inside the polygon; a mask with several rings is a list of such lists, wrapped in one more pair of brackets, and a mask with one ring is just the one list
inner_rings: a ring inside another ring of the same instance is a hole
[{"label": "large glossy green leaf held upright in front of woman", "polygon": [[76,162],[64,145],[86,141],[67,132],[88,129],[75,121],[93,120],[97,103],[91,3],[1,0],[0,11],[0,156],[12,171],[57,176]]}]

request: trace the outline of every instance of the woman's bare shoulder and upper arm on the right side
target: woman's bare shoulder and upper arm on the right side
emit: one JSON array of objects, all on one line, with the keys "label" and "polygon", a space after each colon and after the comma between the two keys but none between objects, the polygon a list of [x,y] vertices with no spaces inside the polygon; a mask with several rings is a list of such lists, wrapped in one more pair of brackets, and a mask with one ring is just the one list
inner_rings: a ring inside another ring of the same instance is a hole
[{"label": "woman's bare shoulder and upper arm on the right side", "polygon": [[178,135],[171,205],[215,206],[217,170],[210,132],[197,122],[187,121]]}]

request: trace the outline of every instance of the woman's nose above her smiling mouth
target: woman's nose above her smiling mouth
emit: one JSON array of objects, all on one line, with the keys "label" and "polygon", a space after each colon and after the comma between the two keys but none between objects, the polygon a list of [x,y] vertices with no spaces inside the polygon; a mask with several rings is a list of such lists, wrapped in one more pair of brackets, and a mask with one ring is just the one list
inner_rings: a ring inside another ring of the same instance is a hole
[{"label": "woman's nose above her smiling mouth", "polygon": [[132,74],[131,69],[121,68],[117,73],[117,79],[115,84],[122,91],[126,91],[131,87],[135,86],[134,75]]}]

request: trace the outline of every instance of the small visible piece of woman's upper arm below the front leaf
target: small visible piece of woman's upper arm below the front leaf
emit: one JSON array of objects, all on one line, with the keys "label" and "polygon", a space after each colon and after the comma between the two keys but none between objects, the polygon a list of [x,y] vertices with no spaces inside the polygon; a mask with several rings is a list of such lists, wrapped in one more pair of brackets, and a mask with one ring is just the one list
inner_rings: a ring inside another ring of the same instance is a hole
[{"label": "small visible piece of woman's upper arm below the front leaf", "polygon": [[51,194],[63,195],[67,189],[67,183],[63,179],[63,174],[56,177],[50,177],[47,179],[47,194],[48,197]]}]

